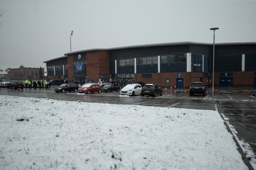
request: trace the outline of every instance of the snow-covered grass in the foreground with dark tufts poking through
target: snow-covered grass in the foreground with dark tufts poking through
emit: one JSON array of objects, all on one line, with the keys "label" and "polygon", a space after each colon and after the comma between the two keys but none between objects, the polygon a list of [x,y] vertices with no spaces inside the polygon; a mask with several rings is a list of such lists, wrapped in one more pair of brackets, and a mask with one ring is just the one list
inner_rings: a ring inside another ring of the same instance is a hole
[{"label": "snow-covered grass in the foreground with dark tufts poking through", "polygon": [[217,111],[0,95],[0,169],[248,169]]}]

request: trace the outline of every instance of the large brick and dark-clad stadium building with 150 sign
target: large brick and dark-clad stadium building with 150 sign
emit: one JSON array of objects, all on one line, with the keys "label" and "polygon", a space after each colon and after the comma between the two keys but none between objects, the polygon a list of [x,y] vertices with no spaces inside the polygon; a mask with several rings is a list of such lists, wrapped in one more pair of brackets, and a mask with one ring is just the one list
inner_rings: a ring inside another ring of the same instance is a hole
[{"label": "large brick and dark-clad stadium building with 150 sign", "polygon": [[[212,86],[212,43],[178,42],[68,52],[44,61],[48,80]],[[256,43],[215,43],[214,86],[256,86]]]}]

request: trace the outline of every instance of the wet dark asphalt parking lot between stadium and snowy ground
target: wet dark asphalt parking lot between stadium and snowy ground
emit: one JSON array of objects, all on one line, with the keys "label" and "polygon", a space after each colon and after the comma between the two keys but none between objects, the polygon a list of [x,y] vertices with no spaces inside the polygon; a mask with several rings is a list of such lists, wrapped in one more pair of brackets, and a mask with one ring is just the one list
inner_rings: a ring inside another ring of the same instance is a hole
[{"label": "wet dark asphalt parking lot between stadium and snowy ground", "polygon": [[0,95],[19,97],[52,98],[80,102],[100,102],[108,104],[148,105],[156,107],[176,107],[184,109],[218,110],[229,119],[237,130],[239,139],[249,143],[256,152],[256,98],[250,89],[216,90],[214,97],[211,91],[207,95],[189,96],[188,90],[164,91],[163,96],[140,97],[120,96],[120,93],[55,93],[50,89],[6,89],[1,88]]}]

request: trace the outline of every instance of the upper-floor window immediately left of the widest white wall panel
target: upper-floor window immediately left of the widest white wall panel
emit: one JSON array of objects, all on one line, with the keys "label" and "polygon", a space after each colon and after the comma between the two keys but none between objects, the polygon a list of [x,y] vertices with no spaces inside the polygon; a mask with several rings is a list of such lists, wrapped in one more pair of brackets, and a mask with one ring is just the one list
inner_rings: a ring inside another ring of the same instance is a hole
[{"label": "upper-floor window immediately left of the widest white wall panel", "polygon": [[169,54],[161,56],[161,64],[186,62],[186,54]]}]

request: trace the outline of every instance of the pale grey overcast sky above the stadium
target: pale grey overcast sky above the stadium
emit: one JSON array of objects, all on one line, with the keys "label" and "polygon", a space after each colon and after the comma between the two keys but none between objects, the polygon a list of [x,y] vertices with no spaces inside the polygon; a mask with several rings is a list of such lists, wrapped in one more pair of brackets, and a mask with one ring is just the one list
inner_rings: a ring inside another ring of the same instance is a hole
[{"label": "pale grey overcast sky above the stadium", "polygon": [[256,0],[0,0],[0,68],[72,51],[169,42],[256,42]]}]

